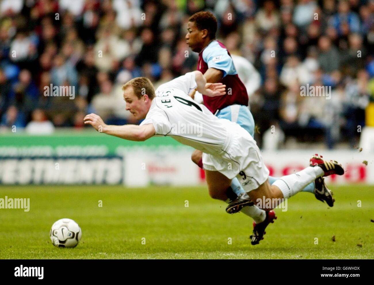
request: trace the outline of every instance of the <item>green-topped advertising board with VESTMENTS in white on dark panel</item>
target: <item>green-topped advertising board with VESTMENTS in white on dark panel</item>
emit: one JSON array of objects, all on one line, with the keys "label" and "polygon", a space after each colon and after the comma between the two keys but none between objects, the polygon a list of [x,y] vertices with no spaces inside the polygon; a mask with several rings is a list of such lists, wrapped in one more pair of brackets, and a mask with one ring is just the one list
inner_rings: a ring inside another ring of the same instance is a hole
[{"label": "green-topped advertising board with VESTMENTS in white on dark panel", "polygon": [[0,134],[0,184],[120,184],[123,156],[136,149],[186,148],[169,137],[126,141],[95,131]]}]

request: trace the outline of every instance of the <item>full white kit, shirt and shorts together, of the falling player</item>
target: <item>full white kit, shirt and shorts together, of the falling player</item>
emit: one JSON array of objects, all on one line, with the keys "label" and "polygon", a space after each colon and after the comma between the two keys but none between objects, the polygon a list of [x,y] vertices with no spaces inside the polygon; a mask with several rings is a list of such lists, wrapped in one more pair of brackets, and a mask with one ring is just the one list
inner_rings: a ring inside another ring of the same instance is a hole
[{"label": "full white kit, shirt and shorts together, of the falling player", "polygon": [[195,74],[187,73],[156,90],[140,125],[153,124],[156,135],[170,136],[203,152],[204,169],[237,177],[246,192],[257,189],[269,176],[255,140],[226,119],[218,119],[187,94],[196,88]]}]

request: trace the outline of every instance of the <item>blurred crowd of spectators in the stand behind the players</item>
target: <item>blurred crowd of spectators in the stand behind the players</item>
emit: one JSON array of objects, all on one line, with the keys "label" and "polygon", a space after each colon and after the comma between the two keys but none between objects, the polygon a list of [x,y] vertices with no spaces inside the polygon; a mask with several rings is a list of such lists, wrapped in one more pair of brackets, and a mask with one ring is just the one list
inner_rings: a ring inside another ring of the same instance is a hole
[{"label": "blurred crowd of spectators in the stand behind the players", "polygon": [[[0,125],[49,133],[83,128],[91,112],[138,123],[122,85],[146,76],[157,88],[196,70],[184,37],[200,10],[260,73],[249,96],[260,145],[272,128],[279,140],[356,143],[374,101],[373,0],[1,0]],[[45,96],[51,84],[74,86],[74,99]],[[300,96],[307,85],[331,86],[331,98]]]}]

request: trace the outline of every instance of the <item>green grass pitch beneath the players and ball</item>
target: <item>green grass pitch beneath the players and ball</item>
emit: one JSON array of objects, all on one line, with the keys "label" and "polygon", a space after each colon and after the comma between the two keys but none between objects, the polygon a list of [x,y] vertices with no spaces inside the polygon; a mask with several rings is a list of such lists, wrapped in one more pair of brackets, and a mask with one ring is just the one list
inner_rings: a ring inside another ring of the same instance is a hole
[{"label": "green grass pitch beneath the players and ball", "polygon": [[[252,220],[227,214],[206,187],[1,186],[0,198],[30,198],[30,211],[0,209],[0,258],[373,258],[374,187],[331,188],[333,208],[297,194],[252,246]],[[52,245],[60,218],[82,228],[76,248]]]}]

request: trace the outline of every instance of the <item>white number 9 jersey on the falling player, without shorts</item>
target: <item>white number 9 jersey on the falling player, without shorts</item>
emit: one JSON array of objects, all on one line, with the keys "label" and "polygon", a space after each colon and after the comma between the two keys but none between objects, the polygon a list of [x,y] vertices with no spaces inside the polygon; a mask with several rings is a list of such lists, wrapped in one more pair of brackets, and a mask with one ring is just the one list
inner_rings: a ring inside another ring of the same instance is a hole
[{"label": "white number 9 jersey on the falling player, without shorts", "polygon": [[230,142],[227,128],[234,123],[218,119],[204,105],[194,102],[187,94],[196,87],[193,72],[159,86],[140,125],[153,124],[156,135],[170,136],[205,153],[225,151]]}]

